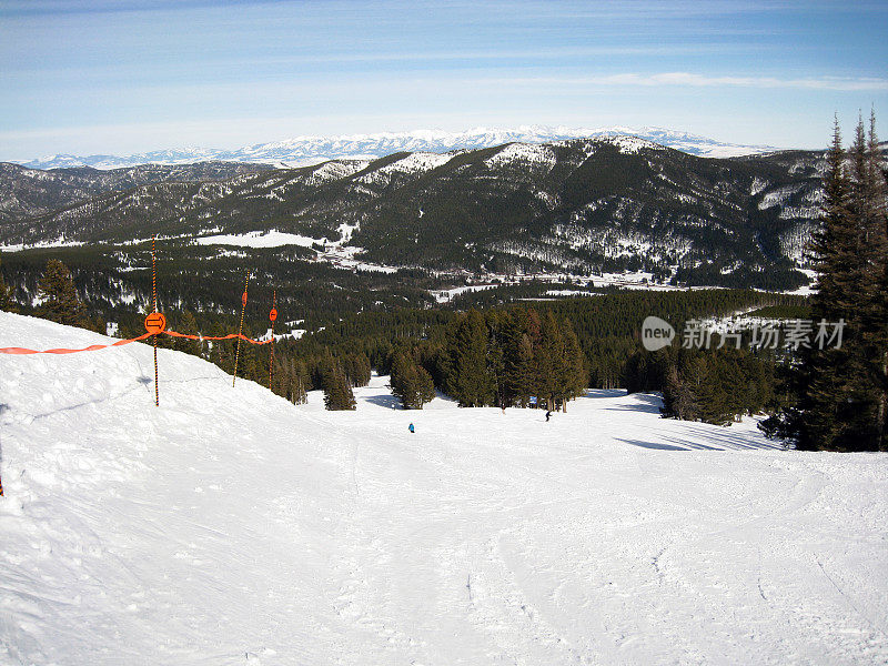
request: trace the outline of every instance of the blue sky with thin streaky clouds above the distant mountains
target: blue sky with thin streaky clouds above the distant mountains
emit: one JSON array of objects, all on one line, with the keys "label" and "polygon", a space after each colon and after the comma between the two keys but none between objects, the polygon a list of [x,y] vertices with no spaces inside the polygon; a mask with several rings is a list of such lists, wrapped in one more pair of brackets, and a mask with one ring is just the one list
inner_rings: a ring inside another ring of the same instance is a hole
[{"label": "blue sky with thin streaky clouds above the distant mountains", "polygon": [[658,125],[888,138],[886,2],[0,0],[0,159]]}]

